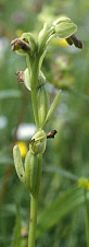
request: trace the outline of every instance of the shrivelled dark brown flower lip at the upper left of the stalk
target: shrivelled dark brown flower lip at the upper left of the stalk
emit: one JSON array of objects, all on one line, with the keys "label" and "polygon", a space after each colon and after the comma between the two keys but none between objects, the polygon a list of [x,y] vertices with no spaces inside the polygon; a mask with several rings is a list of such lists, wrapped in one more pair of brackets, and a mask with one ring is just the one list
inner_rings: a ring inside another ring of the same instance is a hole
[{"label": "shrivelled dark brown flower lip at the upper left of the stalk", "polygon": [[15,38],[11,42],[12,50],[16,50],[16,45],[20,45],[20,49],[23,49],[24,51],[30,50],[28,43],[26,43],[20,38]]}]

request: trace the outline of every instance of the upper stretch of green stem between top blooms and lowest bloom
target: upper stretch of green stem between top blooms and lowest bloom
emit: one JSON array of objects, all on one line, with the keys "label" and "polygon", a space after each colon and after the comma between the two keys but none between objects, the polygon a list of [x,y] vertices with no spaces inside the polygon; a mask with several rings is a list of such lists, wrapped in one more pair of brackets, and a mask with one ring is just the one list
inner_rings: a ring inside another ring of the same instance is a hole
[{"label": "upper stretch of green stem between top blooms and lowest bloom", "polygon": [[39,58],[35,57],[35,59],[31,59],[31,61],[29,61],[29,56],[27,55],[26,61],[27,61],[27,67],[28,67],[29,78],[30,78],[34,116],[35,116],[36,126],[37,128],[39,128],[37,97],[36,97],[36,86],[37,86],[38,73],[39,73]]}]

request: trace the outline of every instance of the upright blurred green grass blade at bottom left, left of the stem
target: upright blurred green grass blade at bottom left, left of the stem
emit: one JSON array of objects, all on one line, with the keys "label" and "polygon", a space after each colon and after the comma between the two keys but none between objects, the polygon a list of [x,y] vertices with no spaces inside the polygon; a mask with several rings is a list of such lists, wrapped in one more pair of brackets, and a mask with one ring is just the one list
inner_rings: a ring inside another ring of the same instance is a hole
[{"label": "upright blurred green grass blade at bottom left, left of the stem", "polygon": [[21,247],[21,215],[18,209],[11,247]]}]

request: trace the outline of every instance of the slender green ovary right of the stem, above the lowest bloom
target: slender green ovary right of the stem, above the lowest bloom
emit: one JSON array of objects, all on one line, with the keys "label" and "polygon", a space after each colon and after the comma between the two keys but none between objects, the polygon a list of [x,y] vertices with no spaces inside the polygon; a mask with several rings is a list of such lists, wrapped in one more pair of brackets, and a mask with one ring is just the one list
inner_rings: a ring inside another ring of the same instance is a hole
[{"label": "slender green ovary right of the stem, above the lowest bloom", "polygon": [[41,127],[46,120],[46,116],[48,113],[48,93],[44,86],[40,86],[37,92],[37,101],[38,101],[38,118],[39,126]]}]

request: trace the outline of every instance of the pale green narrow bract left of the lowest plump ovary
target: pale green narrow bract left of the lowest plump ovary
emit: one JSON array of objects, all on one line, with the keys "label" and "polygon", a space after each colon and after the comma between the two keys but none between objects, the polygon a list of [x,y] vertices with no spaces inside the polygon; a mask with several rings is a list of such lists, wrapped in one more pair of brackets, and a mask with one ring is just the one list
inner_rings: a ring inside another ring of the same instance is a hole
[{"label": "pale green narrow bract left of the lowest plump ovary", "polygon": [[20,177],[22,183],[25,183],[25,172],[24,172],[23,162],[22,162],[18,145],[15,145],[14,149],[13,149],[13,157],[14,157],[14,165],[15,165],[17,176]]}]

